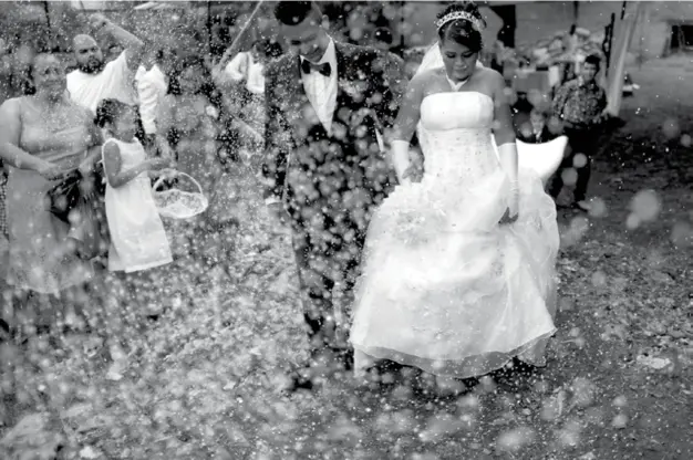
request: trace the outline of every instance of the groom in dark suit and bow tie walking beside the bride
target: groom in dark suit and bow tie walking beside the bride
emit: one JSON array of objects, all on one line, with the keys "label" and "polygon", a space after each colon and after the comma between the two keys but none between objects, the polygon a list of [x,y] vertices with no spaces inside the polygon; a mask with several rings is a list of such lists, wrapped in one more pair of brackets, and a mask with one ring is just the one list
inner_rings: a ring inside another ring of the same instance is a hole
[{"label": "groom in dark suit and bow tie walking beside the bride", "polygon": [[[291,226],[311,362],[349,369],[339,297],[353,288],[371,213],[392,186],[382,138],[406,86],[404,66],[394,54],[333,41],[314,2],[281,1],[275,17],[291,51],[266,69],[266,202]],[[293,376],[299,387],[311,387],[310,375]]]}]

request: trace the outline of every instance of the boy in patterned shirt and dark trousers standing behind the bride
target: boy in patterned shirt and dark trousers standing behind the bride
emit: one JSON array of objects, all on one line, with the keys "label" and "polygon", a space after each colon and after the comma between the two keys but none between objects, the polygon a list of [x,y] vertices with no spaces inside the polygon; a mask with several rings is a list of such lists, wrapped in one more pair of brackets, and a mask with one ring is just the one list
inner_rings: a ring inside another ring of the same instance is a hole
[{"label": "boy in patterned shirt and dark trousers standing behind the bride", "polygon": [[571,153],[561,164],[549,192],[554,198],[558,197],[563,187],[561,172],[568,168],[577,169],[573,207],[583,211],[589,210],[589,203],[585,199],[591,172],[590,158],[596,154],[601,127],[609,116],[607,93],[596,80],[599,67],[598,55],[587,56],[580,75],[558,88],[552,104],[554,116],[563,125]]}]

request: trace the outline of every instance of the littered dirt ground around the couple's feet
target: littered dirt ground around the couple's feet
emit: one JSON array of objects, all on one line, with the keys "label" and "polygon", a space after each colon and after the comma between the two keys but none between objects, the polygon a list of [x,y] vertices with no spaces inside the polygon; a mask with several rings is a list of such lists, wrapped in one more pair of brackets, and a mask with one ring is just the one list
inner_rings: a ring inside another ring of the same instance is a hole
[{"label": "littered dirt ground around the couple's feet", "polygon": [[346,378],[282,396],[303,336],[290,251],[268,250],[286,237],[257,224],[230,281],[172,268],[169,284],[188,289],[169,286],[173,313],[127,337],[120,380],[86,339],[3,345],[0,457],[51,459],[62,445],[56,458],[693,458],[693,101],[680,96],[693,94],[693,61],[631,74],[641,88],[596,159],[592,213],[559,216],[559,332],[542,372],[445,397]]}]

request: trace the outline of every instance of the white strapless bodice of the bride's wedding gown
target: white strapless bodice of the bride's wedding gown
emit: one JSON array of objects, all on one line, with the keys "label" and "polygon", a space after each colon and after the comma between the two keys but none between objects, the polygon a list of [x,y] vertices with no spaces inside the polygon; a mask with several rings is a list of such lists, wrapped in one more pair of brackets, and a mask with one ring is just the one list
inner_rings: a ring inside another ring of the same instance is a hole
[{"label": "white strapless bodice of the bride's wedding gown", "polygon": [[494,102],[473,91],[435,93],[421,104],[418,137],[431,180],[475,182],[499,168],[492,143]]}]

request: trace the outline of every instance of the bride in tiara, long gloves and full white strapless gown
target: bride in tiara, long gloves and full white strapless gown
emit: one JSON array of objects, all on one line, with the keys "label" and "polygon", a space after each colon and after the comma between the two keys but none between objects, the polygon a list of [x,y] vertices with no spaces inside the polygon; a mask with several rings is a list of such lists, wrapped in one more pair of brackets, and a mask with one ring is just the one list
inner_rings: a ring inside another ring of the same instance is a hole
[{"label": "bride in tiara, long gloves and full white strapless gown", "polygon": [[[383,359],[454,378],[514,358],[542,366],[556,331],[556,208],[518,168],[503,76],[476,65],[484,20],[462,2],[436,27],[443,65],[410,83],[391,140],[401,186],[369,229],[351,330],[356,375]],[[410,178],[416,129],[421,182]]]}]

